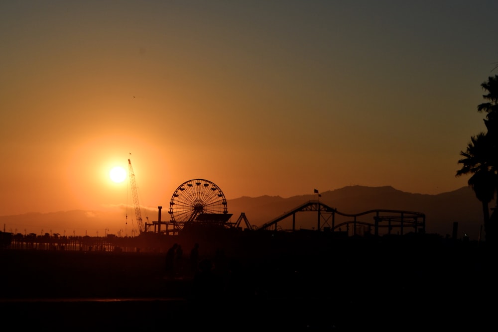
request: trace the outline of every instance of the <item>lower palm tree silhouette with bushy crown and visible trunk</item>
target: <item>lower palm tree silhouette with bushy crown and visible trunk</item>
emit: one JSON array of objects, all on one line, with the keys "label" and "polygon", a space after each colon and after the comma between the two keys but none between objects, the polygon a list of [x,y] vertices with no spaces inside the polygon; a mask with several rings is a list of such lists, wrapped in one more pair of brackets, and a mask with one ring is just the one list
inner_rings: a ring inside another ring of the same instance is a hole
[{"label": "lower palm tree silhouette with bushy crown and visible trunk", "polygon": [[484,132],[472,136],[467,149],[460,151],[460,155],[464,158],[460,159],[458,163],[463,166],[456,174],[456,176],[472,174],[467,183],[474,190],[477,199],[483,204],[484,230],[487,241],[494,241],[496,238],[495,227],[490,224],[489,209],[489,203],[495,198],[498,184],[496,168],[490,162],[493,159],[491,157],[493,152],[494,150],[490,149],[490,139]]}]

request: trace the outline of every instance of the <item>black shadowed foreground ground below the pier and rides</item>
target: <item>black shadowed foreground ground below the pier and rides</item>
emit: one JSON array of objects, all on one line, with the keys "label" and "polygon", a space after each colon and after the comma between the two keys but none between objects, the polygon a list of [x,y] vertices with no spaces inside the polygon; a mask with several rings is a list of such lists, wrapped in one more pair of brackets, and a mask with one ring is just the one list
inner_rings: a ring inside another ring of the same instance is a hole
[{"label": "black shadowed foreground ground below the pier and rides", "polygon": [[[51,331],[480,331],[496,255],[431,238],[255,243],[175,273],[164,253],[0,251],[4,327]],[[202,249],[202,248],[201,248]],[[3,329],[2,329],[3,330]],[[3,330],[6,331],[6,330]]]}]

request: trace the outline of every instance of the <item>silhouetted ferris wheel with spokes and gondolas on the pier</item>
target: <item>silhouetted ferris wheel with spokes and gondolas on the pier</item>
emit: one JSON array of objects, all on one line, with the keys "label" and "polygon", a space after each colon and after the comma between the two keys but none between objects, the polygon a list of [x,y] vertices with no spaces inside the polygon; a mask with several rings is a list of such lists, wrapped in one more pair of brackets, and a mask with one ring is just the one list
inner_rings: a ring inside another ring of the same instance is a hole
[{"label": "silhouetted ferris wheel with spokes and gondolas on the pier", "polygon": [[213,182],[195,179],[182,183],[169,202],[172,221],[194,221],[200,214],[227,214],[227,200]]}]

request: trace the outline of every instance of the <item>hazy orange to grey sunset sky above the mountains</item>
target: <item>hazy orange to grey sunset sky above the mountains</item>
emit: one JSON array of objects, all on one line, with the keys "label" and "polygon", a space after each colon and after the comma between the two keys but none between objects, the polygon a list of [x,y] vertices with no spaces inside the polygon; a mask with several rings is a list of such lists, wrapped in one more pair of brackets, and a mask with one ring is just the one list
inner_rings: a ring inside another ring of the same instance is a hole
[{"label": "hazy orange to grey sunset sky above the mountains", "polygon": [[[498,1],[1,1],[0,215],[349,185],[438,194],[485,130]],[[131,153],[131,155],[129,154]]]}]

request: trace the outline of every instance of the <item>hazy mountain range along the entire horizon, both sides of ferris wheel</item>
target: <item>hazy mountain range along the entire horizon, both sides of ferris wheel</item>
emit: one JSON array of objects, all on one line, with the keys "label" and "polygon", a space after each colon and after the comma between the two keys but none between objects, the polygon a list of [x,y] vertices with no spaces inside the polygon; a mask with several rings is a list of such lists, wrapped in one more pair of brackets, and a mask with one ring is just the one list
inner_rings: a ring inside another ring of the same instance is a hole
[{"label": "hazy mountain range along the entire horizon, both sides of ferris wheel", "polygon": [[[260,197],[240,197],[227,200],[228,212],[233,214],[232,221],[235,222],[245,213],[249,223],[260,226],[267,221],[292,211],[299,205],[309,200],[318,199],[317,195],[301,195],[289,198],[280,196],[260,196]],[[420,212],[426,215],[426,231],[428,233],[438,233],[442,236],[452,234],[453,222],[458,222],[458,236],[468,234],[471,239],[477,240],[482,224],[482,205],[470,187],[462,187],[458,190],[442,193],[438,195],[412,194],[402,192],[390,186],[365,187],[348,186],[333,191],[321,193],[319,198],[323,204],[337,209],[345,214],[358,214],[369,210],[403,210]],[[491,204],[490,206],[493,206]],[[163,209],[162,220],[166,221],[169,215]],[[156,221],[157,215],[148,213],[149,222]],[[316,226],[316,213],[309,212],[310,217],[302,217],[298,213],[296,216],[302,220],[299,227],[311,229]],[[65,230],[66,235],[72,235],[75,231],[78,235],[96,236],[96,229],[100,229],[100,236],[103,236],[105,228],[109,228],[108,233],[118,233],[122,229],[122,234],[132,235],[131,229],[136,229],[136,222],[133,221],[134,214],[131,213],[125,219],[125,211],[67,211],[47,214],[28,213],[15,216],[0,216],[2,225],[6,224],[6,231],[24,233],[35,232],[58,232],[62,235]],[[296,219],[298,218],[296,217]],[[145,221],[144,221],[145,222]],[[241,225],[244,225],[242,223]],[[34,229],[30,231],[29,229]],[[482,234],[484,238],[484,233]]]}]

